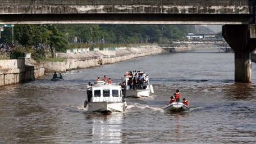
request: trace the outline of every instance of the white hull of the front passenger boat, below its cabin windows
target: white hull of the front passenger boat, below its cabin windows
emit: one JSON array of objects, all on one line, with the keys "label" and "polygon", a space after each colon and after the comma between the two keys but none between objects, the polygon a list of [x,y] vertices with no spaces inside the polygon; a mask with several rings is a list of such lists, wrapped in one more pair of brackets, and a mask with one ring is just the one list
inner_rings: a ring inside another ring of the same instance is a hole
[{"label": "white hull of the front passenger boat, below its cabin windows", "polygon": [[91,102],[87,107],[88,112],[123,112],[125,110],[123,102]]}]

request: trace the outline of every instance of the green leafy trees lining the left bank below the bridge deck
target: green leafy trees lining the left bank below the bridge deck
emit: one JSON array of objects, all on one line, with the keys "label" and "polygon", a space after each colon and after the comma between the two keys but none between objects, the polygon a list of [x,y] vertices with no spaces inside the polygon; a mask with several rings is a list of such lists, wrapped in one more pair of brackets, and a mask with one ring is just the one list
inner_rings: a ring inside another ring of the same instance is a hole
[{"label": "green leafy trees lining the left bank below the bridge deck", "polygon": [[[54,58],[55,51],[63,52],[79,45],[168,44],[198,30],[209,31],[193,25],[15,25],[14,36],[20,45],[33,50],[32,57],[42,59],[47,51]],[[11,28],[5,28],[0,43],[11,44]]]}]

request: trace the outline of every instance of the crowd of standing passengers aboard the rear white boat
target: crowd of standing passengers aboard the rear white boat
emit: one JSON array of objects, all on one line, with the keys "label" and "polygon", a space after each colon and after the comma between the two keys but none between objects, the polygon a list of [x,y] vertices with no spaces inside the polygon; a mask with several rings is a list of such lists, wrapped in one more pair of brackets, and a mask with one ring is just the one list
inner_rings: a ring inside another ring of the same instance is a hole
[{"label": "crowd of standing passengers aboard the rear white boat", "polygon": [[129,77],[127,81],[128,90],[145,90],[148,86],[148,75],[144,72],[126,72],[125,77]]}]

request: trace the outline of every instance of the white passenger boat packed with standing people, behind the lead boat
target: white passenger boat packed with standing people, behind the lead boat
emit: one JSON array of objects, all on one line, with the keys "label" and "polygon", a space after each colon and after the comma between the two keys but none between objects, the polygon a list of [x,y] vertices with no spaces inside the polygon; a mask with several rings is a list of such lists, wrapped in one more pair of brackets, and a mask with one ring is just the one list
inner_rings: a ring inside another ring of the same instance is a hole
[{"label": "white passenger boat packed with standing people, behind the lead boat", "polygon": [[[125,81],[126,84],[126,97],[135,97],[135,98],[141,98],[141,97],[149,97],[150,94],[154,94],[153,85],[150,85],[149,83],[149,77],[145,74],[145,72],[132,72],[133,76],[129,72],[125,73],[125,76],[123,77],[123,81]],[[143,85],[137,85],[137,89],[130,90],[130,86],[128,85],[128,81],[130,78],[133,79],[134,76],[142,74],[144,78],[146,77],[145,83]]]}]

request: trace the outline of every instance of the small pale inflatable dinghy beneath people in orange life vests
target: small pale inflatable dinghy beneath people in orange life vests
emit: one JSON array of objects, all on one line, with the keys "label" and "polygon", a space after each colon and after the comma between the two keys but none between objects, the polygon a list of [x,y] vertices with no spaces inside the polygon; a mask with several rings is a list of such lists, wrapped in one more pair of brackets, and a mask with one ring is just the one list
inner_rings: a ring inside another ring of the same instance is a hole
[{"label": "small pale inflatable dinghy beneath people in orange life vests", "polygon": [[174,102],[167,105],[165,108],[163,108],[165,111],[172,111],[172,112],[183,112],[188,111],[189,107],[181,102]]}]

